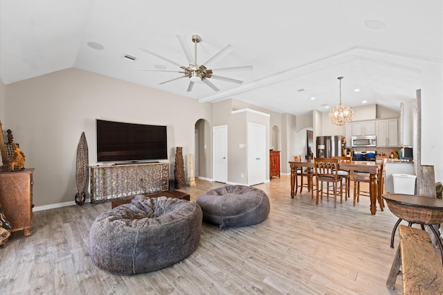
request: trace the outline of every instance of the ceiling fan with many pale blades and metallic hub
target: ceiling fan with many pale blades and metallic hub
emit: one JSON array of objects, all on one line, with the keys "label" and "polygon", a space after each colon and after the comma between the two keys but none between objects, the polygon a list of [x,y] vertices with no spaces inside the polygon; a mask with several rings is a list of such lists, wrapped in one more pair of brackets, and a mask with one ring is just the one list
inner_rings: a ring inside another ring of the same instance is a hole
[{"label": "ceiling fan with many pale blades and metallic hub", "polygon": [[163,71],[163,72],[173,72],[173,73],[182,73],[183,74],[182,76],[180,76],[178,78],[167,80],[167,81],[161,82],[160,84],[165,84],[165,83],[172,82],[174,80],[179,80],[182,78],[189,78],[190,81],[189,81],[189,85],[188,85],[188,92],[192,91],[192,87],[194,87],[195,82],[199,82],[199,81],[204,82],[206,85],[208,85],[214,91],[219,91],[220,89],[218,89],[215,86],[215,84],[210,82],[209,79],[222,80],[222,81],[236,83],[236,84],[242,84],[243,81],[232,79],[232,78],[227,78],[227,77],[223,77],[223,76],[219,76],[219,75],[214,75],[213,71],[215,71],[217,73],[219,71],[241,71],[241,70],[251,70],[253,68],[252,66],[234,66],[234,67],[222,68],[222,69],[208,69],[209,64],[221,59],[221,57],[224,57],[225,55],[230,53],[230,51],[233,51],[233,46],[232,45],[226,46],[225,48],[221,49],[221,51],[216,53],[213,57],[210,57],[210,59],[207,60],[206,62],[204,62],[203,64],[198,64],[197,63],[197,43],[199,43],[201,41],[200,36],[199,35],[192,35],[192,42],[194,42],[194,44],[195,44],[194,45],[194,52],[195,52],[194,56],[192,56],[192,53],[188,47],[188,44],[186,44],[185,37],[183,37],[181,35],[177,35],[177,37],[179,38],[181,48],[183,49],[183,52],[185,53],[186,58],[188,59],[189,66],[183,66],[177,62],[173,62],[172,60],[169,60],[166,57],[163,57],[161,55],[153,53],[152,51],[149,51],[145,48],[138,47],[138,49],[140,49],[141,51],[145,51],[146,53],[150,53],[151,55],[159,57],[162,60],[169,62],[170,64],[174,64],[175,66],[179,66],[179,68],[181,69],[179,71],[140,69],[141,71]]}]

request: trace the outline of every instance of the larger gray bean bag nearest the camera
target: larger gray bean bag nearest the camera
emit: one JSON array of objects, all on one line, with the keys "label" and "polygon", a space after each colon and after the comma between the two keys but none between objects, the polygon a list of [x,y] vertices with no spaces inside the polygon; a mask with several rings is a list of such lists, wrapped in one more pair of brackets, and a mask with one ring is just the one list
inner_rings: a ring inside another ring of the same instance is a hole
[{"label": "larger gray bean bag nearest the camera", "polygon": [[169,267],[199,244],[201,208],[195,202],[137,195],[102,213],[89,231],[89,254],[100,269],[141,274]]}]

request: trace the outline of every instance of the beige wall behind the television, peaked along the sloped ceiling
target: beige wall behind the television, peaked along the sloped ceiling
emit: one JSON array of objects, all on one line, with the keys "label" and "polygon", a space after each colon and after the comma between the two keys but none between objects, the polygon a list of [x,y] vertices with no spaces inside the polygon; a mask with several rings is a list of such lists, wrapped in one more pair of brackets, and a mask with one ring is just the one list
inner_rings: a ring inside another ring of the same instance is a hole
[{"label": "beige wall behind the television, peaked along the sloped ceiling", "polygon": [[188,175],[195,123],[200,118],[212,120],[210,104],[79,69],[8,84],[4,103],[3,129],[12,129],[26,155],[26,167],[35,168],[35,206],[73,202],[82,132],[89,145],[89,164],[96,165],[96,118],[167,125],[170,179],[176,147],[183,147]]}]

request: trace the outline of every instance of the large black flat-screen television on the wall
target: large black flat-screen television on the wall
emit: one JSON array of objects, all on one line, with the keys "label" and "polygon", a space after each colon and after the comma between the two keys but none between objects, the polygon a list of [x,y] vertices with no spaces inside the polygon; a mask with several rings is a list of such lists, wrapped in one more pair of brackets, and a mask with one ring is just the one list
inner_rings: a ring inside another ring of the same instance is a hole
[{"label": "large black flat-screen television on the wall", "polygon": [[168,159],[166,126],[96,119],[97,161]]}]

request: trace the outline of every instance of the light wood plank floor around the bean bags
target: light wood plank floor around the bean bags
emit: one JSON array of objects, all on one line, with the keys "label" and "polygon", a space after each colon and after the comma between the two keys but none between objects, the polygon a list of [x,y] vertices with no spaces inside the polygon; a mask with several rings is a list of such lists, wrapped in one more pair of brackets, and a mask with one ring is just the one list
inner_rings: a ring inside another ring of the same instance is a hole
[{"label": "light wood plank floor around the bean bags", "polygon": [[[223,185],[197,179],[181,191],[195,201]],[[397,221],[388,208],[370,215],[368,197],[336,209],[332,198],[317,206],[306,193],[291,199],[287,175],[256,187],[271,202],[264,222],[224,230],[204,223],[188,258],[136,276],[109,274],[89,258],[89,227],[110,202],[38,211],[33,234],[12,233],[0,249],[0,294],[402,293],[401,276],[395,290],[386,288]]]}]

